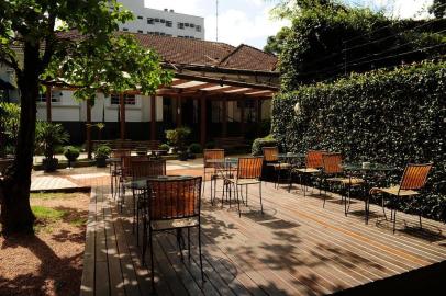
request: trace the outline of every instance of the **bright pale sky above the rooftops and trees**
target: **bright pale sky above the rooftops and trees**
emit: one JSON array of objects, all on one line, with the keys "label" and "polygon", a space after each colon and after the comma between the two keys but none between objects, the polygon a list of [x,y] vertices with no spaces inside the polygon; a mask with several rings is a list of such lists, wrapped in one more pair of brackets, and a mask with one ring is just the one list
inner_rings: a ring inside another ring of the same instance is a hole
[{"label": "bright pale sky above the rooftops and trees", "polygon": [[[393,18],[427,18],[427,7],[433,0],[345,0],[373,10],[386,9]],[[216,0],[145,0],[154,9],[174,9],[204,18],[205,39],[215,41]],[[275,0],[219,0],[219,41],[237,46],[242,43],[263,48],[267,37],[275,35],[288,21],[272,20],[269,11]],[[424,12],[423,12],[424,11]]]}]

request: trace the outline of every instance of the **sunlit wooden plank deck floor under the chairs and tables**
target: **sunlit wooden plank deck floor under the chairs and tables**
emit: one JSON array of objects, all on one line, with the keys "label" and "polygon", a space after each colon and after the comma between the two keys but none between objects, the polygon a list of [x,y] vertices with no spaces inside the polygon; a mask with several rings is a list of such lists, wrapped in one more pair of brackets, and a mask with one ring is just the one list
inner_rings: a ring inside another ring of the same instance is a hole
[{"label": "sunlit wooden plank deck floor under the chairs and tables", "polygon": [[[187,255],[181,261],[175,236],[156,235],[158,295],[331,294],[446,260],[444,224],[423,219],[421,230],[417,216],[398,213],[393,235],[378,206],[371,205],[365,225],[360,201],[345,217],[338,196],[323,208],[316,190],[303,197],[299,190],[288,193],[270,183],[263,189],[265,214],[253,187],[242,218],[234,206],[211,206],[204,194],[204,284],[197,248],[191,261]],[[149,295],[149,271],[141,264],[131,214],[119,214],[108,193],[107,182],[93,185],[81,295]]]}]

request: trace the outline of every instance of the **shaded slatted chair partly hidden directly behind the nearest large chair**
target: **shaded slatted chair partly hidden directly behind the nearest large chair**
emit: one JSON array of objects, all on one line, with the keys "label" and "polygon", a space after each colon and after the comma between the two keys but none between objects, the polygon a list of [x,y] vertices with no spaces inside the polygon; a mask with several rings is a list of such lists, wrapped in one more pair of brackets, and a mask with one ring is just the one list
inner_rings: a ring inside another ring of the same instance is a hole
[{"label": "shaded slatted chair partly hidden directly behind the nearest large chair", "polygon": [[[166,160],[164,159],[132,159],[132,182],[145,180],[149,177],[166,175]],[[144,183],[145,184],[145,183]],[[146,186],[132,186],[133,196],[133,229],[136,221],[136,242],[140,242],[140,213],[147,206]]]}]

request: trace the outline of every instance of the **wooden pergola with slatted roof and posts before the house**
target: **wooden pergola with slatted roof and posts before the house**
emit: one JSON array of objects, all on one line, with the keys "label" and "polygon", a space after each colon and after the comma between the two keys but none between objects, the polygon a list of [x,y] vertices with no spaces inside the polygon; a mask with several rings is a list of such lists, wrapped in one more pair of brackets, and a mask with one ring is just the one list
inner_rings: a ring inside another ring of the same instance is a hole
[{"label": "wooden pergola with slatted roof and posts before the house", "polygon": [[[201,65],[170,65],[164,67],[175,70],[175,78],[170,86],[161,86],[156,94],[150,96],[150,139],[155,140],[156,135],[156,96],[169,96],[177,100],[180,105],[182,100],[198,100],[200,105],[200,144],[204,146],[207,140],[207,102],[221,101],[222,109],[222,137],[227,136],[227,102],[238,101],[241,103],[241,132],[245,130],[245,101],[253,100],[257,109],[257,116],[260,115],[261,102],[271,100],[278,91],[279,73],[275,71],[253,71],[242,69],[227,69],[219,67],[207,67]],[[51,87],[58,83],[51,82],[46,92],[47,121],[52,121]],[[74,87],[62,87],[74,89]],[[124,94],[141,94],[138,90],[120,93],[120,137],[125,139],[125,100]],[[177,126],[181,126],[182,112],[177,113]],[[259,121],[257,118],[257,121]],[[91,152],[91,105],[87,103],[87,143]]]}]

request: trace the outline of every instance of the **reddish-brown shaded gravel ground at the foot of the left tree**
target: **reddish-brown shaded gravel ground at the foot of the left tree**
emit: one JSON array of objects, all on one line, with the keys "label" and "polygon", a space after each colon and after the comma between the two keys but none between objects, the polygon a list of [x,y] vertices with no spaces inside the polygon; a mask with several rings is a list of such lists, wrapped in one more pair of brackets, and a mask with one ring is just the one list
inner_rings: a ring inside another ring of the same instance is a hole
[{"label": "reddish-brown shaded gravel ground at the foot of the left tree", "polygon": [[89,195],[53,194],[32,206],[63,213],[40,219],[35,235],[0,236],[0,295],[79,295]]}]

